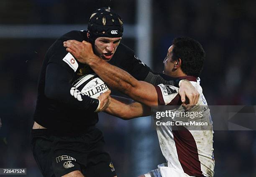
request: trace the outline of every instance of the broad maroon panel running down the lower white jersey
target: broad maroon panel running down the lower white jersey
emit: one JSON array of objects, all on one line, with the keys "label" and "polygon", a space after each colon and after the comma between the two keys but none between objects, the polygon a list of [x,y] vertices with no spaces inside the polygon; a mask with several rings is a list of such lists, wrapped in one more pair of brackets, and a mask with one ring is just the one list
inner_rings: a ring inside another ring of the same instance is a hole
[{"label": "broad maroon panel running down the lower white jersey", "polygon": [[183,126],[172,126],[174,142],[182,169],[189,176],[203,176],[193,135]]}]

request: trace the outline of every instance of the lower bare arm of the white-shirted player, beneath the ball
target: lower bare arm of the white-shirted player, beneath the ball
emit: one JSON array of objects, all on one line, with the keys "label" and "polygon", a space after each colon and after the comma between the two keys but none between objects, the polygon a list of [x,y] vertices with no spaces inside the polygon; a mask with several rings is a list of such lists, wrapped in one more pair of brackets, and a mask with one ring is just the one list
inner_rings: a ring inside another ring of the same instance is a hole
[{"label": "lower bare arm of the white-shirted player, beneath the ball", "polygon": [[151,108],[139,102],[135,102],[132,99],[111,96],[110,105],[105,112],[110,115],[120,117],[123,120],[130,120],[136,117],[151,115]]}]

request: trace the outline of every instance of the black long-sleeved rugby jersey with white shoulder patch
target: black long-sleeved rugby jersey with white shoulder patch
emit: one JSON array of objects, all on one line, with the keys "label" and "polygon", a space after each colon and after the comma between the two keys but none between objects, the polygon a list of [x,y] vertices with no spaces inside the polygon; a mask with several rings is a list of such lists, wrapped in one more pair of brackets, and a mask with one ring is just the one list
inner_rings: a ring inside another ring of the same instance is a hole
[{"label": "black long-sleeved rugby jersey with white shoulder patch", "polygon": [[[71,31],[57,39],[46,52],[38,80],[38,96],[34,121],[49,130],[80,132],[98,122],[90,97],[79,102],[70,95],[72,82],[92,73],[88,65],[70,59],[63,42],[87,40],[86,31]],[[150,68],[141,63],[134,51],[120,43],[110,64],[129,72],[137,80],[144,80]]]}]

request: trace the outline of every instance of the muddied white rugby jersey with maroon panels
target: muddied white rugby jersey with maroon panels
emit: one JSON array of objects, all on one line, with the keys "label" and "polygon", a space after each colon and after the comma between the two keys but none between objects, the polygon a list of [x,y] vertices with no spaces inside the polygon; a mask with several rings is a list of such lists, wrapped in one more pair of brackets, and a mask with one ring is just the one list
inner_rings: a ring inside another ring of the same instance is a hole
[{"label": "muddied white rugby jersey with maroon panels", "polygon": [[[182,77],[183,78],[183,77]],[[202,93],[200,78],[186,76],[200,93],[198,105],[189,112],[202,112],[202,121],[208,123],[207,130],[192,130],[191,127],[182,127],[177,130],[174,126],[156,126],[161,151],[168,167],[181,170],[189,176],[212,177],[214,175],[215,160],[213,156],[213,130],[210,109]],[[159,84],[156,86],[159,105],[181,105],[177,87]],[[206,107],[206,108],[205,108]],[[173,111],[184,112],[182,106]],[[184,120],[184,117],[174,117],[174,121]],[[177,126],[176,126],[177,127]]]}]

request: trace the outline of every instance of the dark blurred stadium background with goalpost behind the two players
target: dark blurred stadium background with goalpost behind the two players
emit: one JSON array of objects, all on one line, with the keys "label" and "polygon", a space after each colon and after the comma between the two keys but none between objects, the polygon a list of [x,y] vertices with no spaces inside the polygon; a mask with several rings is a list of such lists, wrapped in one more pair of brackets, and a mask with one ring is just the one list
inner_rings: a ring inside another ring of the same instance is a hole
[{"label": "dark blurred stadium background with goalpost behind the two players", "polygon": [[[148,17],[141,14],[143,3],[151,6],[148,37],[136,33],[138,20],[143,23]],[[1,0],[0,168],[24,167],[27,177],[41,177],[29,145],[41,62],[57,37],[87,29],[90,13],[107,5],[123,17],[122,42],[154,71],[162,71],[174,37],[193,37],[207,53],[200,78],[208,104],[256,105],[256,1]],[[151,48],[138,51],[139,42]],[[147,119],[123,121],[100,114],[97,126],[104,132],[119,177],[134,177],[164,162]],[[214,148],[215,177],[256,177],[254,131],[215,131]]]}]

